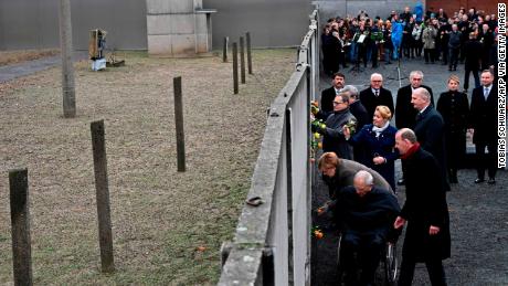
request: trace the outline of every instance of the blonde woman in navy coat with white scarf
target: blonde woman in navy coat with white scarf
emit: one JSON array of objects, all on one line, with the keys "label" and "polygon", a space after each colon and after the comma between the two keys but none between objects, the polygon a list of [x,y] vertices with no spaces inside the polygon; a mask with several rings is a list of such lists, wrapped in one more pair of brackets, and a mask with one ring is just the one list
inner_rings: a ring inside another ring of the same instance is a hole
[{"label": "blonde woman in navy coat with white scarf", "polygon": [[360,131],[350,137],[349,129],[345,128],[346,138],[353,148],[363,150],[363,158],[356,161],[378,171],[395,191],[395,160],[399,152],[395,147],[396,128],[390,125],[392,113],[384,105],[375,107],[372,124],[363,126]]}]

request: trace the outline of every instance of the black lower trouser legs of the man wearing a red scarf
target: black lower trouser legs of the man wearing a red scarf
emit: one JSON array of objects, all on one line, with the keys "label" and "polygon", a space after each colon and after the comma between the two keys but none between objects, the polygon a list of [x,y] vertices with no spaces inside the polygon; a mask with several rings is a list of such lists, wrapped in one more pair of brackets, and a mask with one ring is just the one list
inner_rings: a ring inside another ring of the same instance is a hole
[{"label": "black lower trouser legs of the man wearing a red scarf", "polygon": [[[399,276],[399,286],[411,286],[414,277],[414,267],[416,266],[416,259],[414,257],[402,257],[401,263],[401,275]],[[427,267],[428,277],[432,286],[445,286],[446,276],[443,268],[443,262],[441,258],[430,258],[425,261]]]}]

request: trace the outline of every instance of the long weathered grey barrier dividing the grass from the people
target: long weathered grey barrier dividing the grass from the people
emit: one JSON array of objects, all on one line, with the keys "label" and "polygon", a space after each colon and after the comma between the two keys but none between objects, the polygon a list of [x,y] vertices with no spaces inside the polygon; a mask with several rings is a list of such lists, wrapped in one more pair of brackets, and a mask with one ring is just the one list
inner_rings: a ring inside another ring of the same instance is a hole
[{"label": "long weathered grey barrier dividing the grass from the people", "polygon": [[271,105],[251,189],[219,285],[310,284],[309,103],[319,84],[318,11],[296,70]]}]

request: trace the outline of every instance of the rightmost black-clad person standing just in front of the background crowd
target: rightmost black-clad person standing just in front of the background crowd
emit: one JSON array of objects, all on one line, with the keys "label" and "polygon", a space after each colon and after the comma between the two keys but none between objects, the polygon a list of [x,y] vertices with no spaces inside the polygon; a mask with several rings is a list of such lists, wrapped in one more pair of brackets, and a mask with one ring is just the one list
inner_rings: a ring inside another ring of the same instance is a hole
[{"label": "rightmost black-clad person standing just in front of the background crowd", "polygon": [[481,56],[481,44],[476,40],[474,32],[469,33],[469,41],[464,45],[465,64],[464,64],[464,92],[469,88],[469,74],[473,73],[475,78],[475,88],[479,87],[479,62]]}]

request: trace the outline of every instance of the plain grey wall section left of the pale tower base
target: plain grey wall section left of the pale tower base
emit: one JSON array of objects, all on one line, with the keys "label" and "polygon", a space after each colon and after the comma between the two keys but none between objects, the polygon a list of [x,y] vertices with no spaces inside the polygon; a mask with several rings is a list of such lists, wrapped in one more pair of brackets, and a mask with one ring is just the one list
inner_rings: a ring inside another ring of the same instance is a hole
[{"label": "plain grey wall section left of the pale tower base", "polygon": [[[0,0],[0,50],[59,47],[59,0]],[[88,31],[108,32],[115,49],[147,49],[142,0],[71,0],[73,44],[88,49]]]}]

